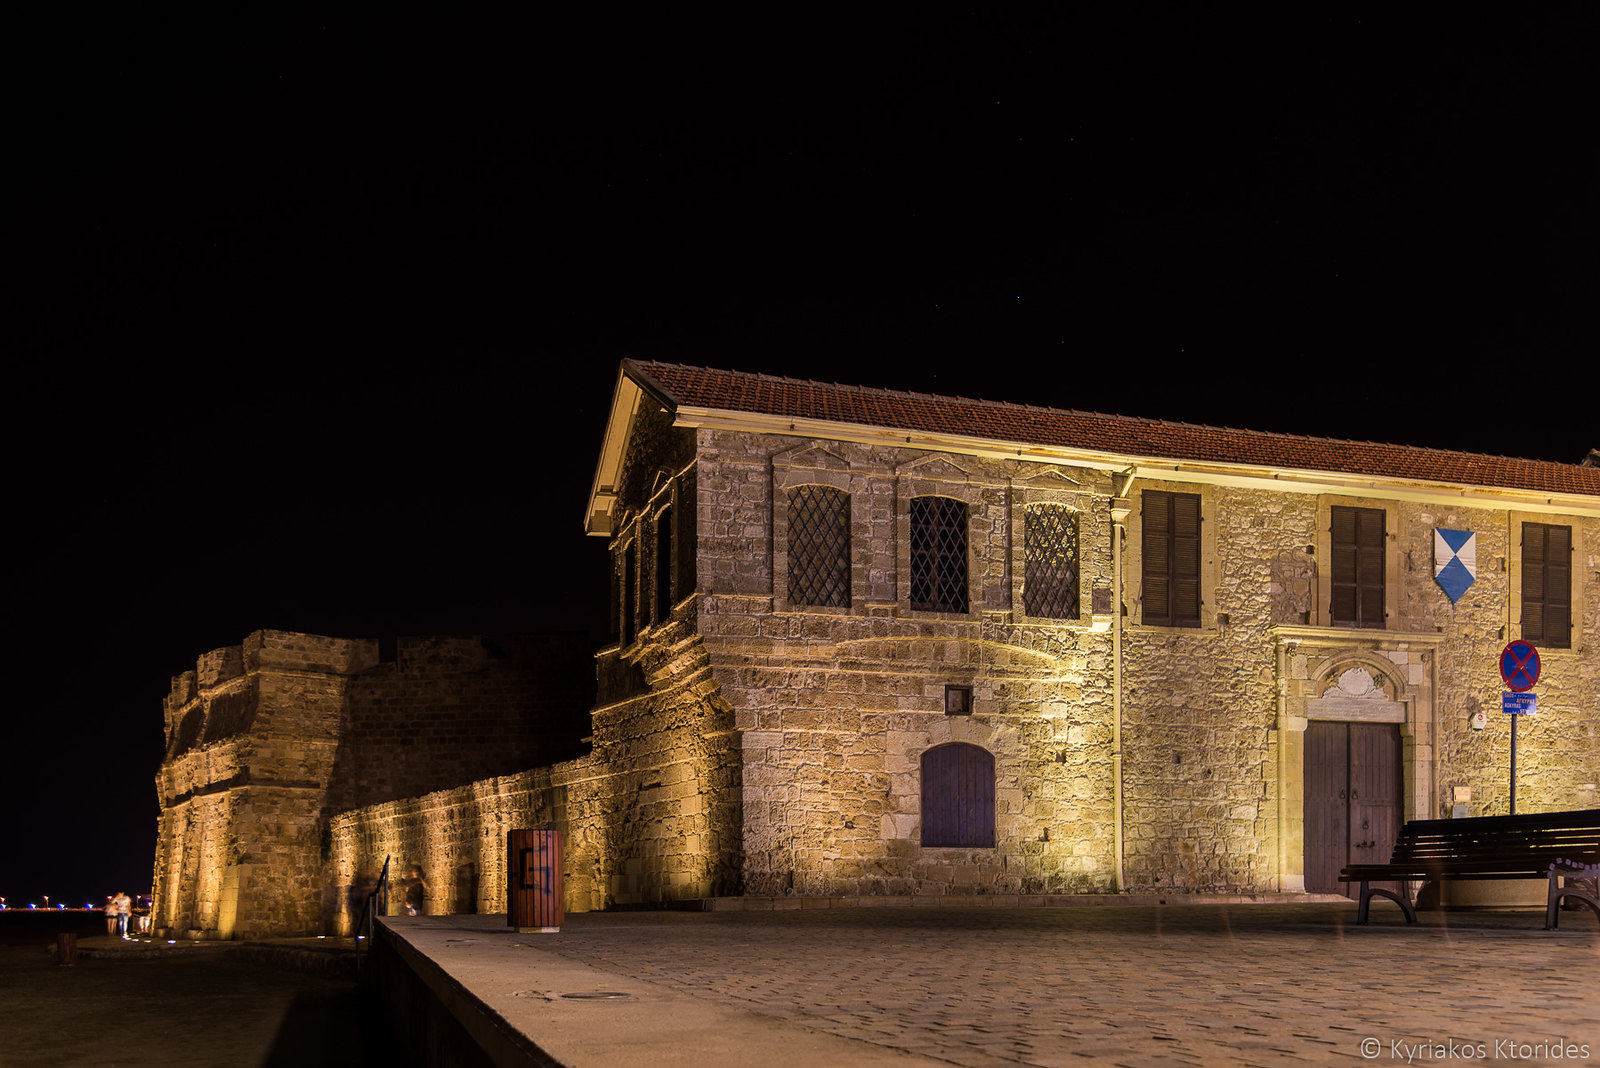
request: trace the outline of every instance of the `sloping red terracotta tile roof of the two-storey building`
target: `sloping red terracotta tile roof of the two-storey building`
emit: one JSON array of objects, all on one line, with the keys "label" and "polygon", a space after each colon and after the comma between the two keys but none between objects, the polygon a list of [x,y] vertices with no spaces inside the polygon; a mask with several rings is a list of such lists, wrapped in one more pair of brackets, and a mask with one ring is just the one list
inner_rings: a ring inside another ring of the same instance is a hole
[{"label": "sloping red terracotta tile roof of the two-storey building", "polygon": [[624,363],[635,379],[675,408],[821,419],[1021,444],[1093,449],[1128,457],[1600,496],[1600,467],[1578,464],[1130,419],[962,397],[805,382],[675,363],[645,360]]}]

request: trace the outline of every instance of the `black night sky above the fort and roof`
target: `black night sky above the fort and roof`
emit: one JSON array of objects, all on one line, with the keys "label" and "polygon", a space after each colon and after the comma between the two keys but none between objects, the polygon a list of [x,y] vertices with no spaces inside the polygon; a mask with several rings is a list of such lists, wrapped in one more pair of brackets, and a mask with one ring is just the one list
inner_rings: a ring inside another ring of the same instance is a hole
[{"label": "black night sky above the fort and roof", "polygon": [[598,632],[624,357],[1579,460],[1594,16],[1318,11],[18,32],[0,894],[200,652]]}]

